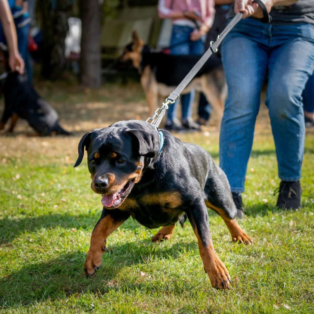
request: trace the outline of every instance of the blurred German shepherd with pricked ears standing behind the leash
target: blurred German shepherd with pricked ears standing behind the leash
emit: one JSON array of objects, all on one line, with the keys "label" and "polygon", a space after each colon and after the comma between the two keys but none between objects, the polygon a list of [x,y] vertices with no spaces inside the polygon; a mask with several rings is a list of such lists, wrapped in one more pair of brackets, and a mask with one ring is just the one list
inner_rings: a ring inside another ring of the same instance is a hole
[{"label": "blurred German shepherd with pricked ears standing behind the leash", "polygon": [[[149,114],[152,114],[181,83],[200,57],[198,55],[173,56],[156,52],[145,45],[137,32],[133,31],[133,41],[124,48],[119,60],[122,62],[131,60],[138,70],[149,106]],[[218,127],[220,127],[227,97],[227,85],[219,57],[215,54],[211,56],[182,94],[191,92],[191,89],[203,92],[216,111]]]}]

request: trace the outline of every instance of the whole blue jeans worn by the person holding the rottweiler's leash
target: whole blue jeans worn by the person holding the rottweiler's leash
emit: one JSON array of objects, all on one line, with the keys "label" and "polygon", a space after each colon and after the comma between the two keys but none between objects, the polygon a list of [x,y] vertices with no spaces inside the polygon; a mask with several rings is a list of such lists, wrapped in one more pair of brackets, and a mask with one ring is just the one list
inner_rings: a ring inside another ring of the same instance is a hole
[{"label": "whole blue jeans worn by the person holding the rottweiler's leash", "polygon": [[220,166],[232,192],[243,192],[260,94],[268,73],[266,106],[283,181],[301,176],[304,150],[302,91],[314,68],[314,25],[241,20],[222,43],[228,98],[219,139]]}]

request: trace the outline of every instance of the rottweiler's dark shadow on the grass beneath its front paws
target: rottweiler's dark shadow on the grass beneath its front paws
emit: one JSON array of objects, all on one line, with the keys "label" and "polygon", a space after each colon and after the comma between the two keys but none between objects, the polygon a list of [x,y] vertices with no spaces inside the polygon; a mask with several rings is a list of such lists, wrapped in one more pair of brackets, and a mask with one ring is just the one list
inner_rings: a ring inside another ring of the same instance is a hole
[{"label": "rottweiler's dark shadow on the grass beneath its front paws", "polygon": [[[113,245],[103,256],[103,266],[91,279],[86,278],[83,272],[86,253],[82,251],[60,255],[44,262],[26,263],[19,270],[8,274],[7,278],[0,279],[0,307],[31,306],[46,299],[66,300],[71,296],[79,298],[86,293],[99,294],[101,297],[112,289],[160,292],[159,284],[154,282],[153,273],[152,280],[141,278],[141,265],[152,256],[156,259],[176,259],[187,249],[198,249],[196,241],[167,245],[156,245],[147,240]],[[136,264],[139,276],[127,278],[125,281],[119,277],[123,268]],[[182,289],[189,290],[191,287],[182,284]]]}]

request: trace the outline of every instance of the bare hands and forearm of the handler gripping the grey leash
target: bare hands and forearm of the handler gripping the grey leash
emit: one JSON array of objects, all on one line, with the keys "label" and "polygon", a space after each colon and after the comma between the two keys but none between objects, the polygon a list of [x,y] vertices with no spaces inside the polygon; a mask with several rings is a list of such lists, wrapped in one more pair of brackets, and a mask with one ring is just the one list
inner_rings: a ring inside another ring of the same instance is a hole
[{"label": "bare hands and forearm of the handler gripping the grey leash", "polygon": [[[298,0],[261,0],[265,4],[267,12],[269,13],[273,6],[289,6]],[[235,0],[235,13],[242,12],[242,19],[245,19],[249,16],[254,16],[258,19],[263,17],[263,11],[260,6],[252,0]]]}]

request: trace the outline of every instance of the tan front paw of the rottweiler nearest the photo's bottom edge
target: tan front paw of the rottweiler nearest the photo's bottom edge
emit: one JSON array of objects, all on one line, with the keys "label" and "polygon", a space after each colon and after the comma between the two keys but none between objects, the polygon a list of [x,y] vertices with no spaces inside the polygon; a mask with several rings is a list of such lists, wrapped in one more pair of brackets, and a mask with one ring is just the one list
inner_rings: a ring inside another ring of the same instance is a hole
[{"label": "tan front paw of the rottweiler nearest the photo's bottom edge", "polygon": [[208,274],[211,285],[216,289],[230,289],[231,279],[224,263],[221,262],[219,257],[216,257],[214,263],[211,263],[211,265],[212,266],[209,268],[206,267],[208,269],[206,269],[204,266],[205,272]]}]

